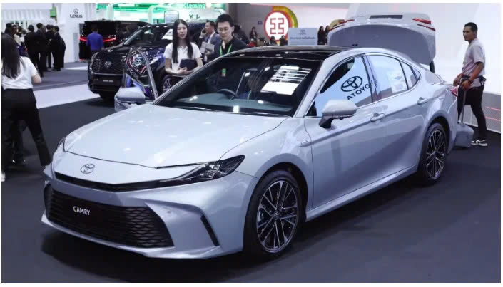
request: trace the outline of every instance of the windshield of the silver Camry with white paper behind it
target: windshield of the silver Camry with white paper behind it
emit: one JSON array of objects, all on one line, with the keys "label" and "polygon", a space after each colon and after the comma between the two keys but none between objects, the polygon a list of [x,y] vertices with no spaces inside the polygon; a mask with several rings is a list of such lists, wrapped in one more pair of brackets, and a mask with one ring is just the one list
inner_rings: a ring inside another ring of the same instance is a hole
[{"label": "windshield of the silver Camry with white paper behind it", "polygon": [[292,58],[223,57],[168,90],[156,105],[293,116],[319,66]]}]

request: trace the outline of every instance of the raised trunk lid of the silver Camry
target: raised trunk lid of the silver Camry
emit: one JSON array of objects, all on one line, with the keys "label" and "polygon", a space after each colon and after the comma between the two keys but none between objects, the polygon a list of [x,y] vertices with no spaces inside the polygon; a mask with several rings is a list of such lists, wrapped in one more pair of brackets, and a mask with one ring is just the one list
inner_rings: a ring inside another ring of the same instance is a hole
[{"label": "raised trunk lid of the silver Camry", "polygon": [[435,72],[435,28],[426,14],[355,16],[340,22],[328,33],[328,45],[398,51]]}]

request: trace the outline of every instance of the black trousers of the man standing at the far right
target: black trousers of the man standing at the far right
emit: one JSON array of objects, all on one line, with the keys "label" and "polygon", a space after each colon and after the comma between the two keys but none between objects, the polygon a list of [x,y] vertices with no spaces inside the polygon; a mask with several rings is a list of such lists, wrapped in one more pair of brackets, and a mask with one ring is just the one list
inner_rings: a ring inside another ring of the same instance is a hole
[{"label": "black trousers of the man standing at the far right", "polygon": [[484,94],[484,86],[479,88],[471,88],[464,93],[464,90],[459,86],[457,90],[457,115],[461,116],[463,109],[463,97],[466,96],[465,105],[470,105],[472,112],[477,118],[479,126],[479,140],[487,140],[487,125],[484,110],[482,110],[482,95]]}]

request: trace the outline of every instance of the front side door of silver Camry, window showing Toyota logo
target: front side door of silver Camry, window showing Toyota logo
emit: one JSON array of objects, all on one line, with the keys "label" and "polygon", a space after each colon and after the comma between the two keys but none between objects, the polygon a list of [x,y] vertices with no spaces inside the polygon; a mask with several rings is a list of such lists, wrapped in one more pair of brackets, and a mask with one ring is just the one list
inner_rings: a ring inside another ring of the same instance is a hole
[{"label": "front side door of silver Camry, window showing Toyota logo", "polygon": [[[305,118],[313,151],[313,207],[382,179],[385,127],[372,83],[364,58],[352,58],[332,71],[313,100]],[[357,111],[351,118],[334,120],[330,128],[320,127],[328,100],[352,100]]]}]

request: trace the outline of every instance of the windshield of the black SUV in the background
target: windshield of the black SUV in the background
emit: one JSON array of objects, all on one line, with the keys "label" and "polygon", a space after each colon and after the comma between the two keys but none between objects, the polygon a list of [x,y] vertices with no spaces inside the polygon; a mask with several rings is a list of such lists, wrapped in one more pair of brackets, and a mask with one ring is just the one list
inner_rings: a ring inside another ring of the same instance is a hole
[{"label": "windshield of the black SUV in the background", "polygon": [[124,45],[131,46],[168,46],[173,41],[173,29],[171,26],[146,27],[133,33]]}]

